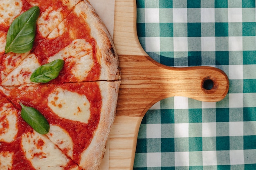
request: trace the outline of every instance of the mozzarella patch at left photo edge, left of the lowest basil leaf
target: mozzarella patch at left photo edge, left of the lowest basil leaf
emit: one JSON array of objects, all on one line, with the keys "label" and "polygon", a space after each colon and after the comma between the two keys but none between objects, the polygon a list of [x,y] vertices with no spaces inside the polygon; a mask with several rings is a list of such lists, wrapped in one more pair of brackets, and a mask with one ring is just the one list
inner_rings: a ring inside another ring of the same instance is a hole
[{"label": "mozzarella patch at left photo edge, left of the lowest basil leaf", "polygon": [[0,110],[0,141],[14,141],[18,133],[17,110],[11,108],[11,104],[3,104]]}]

